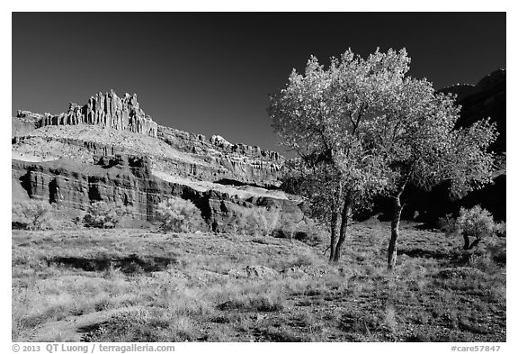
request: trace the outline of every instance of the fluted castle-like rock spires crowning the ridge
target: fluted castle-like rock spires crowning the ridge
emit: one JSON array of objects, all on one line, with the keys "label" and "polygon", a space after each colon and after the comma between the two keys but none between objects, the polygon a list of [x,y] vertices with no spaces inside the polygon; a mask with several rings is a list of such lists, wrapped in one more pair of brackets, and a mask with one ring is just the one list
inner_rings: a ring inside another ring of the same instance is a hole
[{"label": "fluted castle-like rock spires crowning the ridge", "polygon": [[66,113],[39,114],[18,111],[17,117],[34,119],[37,128],[46,125],[95,124],[152,137],[156,137],[158,127],[151,117],[140,109],[137,95],[126,94],[119,97],[113,90],[90,97],[88,103],[83,106],[70,103]]}]

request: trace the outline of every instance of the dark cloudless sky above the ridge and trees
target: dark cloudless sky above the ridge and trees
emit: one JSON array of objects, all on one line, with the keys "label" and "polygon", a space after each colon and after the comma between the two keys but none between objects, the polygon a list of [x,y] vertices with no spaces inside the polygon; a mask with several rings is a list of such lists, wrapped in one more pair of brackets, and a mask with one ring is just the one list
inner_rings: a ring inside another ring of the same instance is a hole
[{"label": "dark cloudless sky above the ridge and trees", "polygon": [[405,47],[436,88],[505,68],[505,13],[14,13],[13,107],[137,93],[156,123],[279,150],[267,95],[351,48]]}]

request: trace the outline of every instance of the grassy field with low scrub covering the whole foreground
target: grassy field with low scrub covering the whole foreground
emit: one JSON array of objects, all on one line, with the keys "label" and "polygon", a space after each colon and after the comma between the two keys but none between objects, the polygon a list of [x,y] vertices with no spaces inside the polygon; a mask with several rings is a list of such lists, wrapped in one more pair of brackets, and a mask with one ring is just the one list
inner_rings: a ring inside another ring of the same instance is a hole
[{"label": "grassy field with low scrub covering the whole foreground", "polygon": [[343,259],[230,234],[13,231],[15,341],[505,341],[505,239],[356,223]]}]

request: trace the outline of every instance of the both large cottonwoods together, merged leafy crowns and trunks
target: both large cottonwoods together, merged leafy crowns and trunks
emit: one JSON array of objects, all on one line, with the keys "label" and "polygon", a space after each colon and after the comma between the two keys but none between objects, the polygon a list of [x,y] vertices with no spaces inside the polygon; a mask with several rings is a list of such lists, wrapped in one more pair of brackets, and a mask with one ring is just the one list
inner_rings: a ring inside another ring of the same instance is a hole
[{"label": "both large cottonwoods together, merged leafy crowns and trunks", "polygon": [[451,195],[462,196],[491,182],[495,157],[487,147],[496,140],[495,124],[457,128],[454,96],[406,77],[409,65],[406,50],[377,50],[367,59],[347,50],[328,68],[311,57],[305,73],[293,70],[288,85],[270,98],[281,145],[299,155],[287,164],[287,176],[308,198],[313,216],[330,227],[331,259],[339,258],[349,218],[376,195],[395,202],[392,268],[406,186],[430,190],[448,181]]}]

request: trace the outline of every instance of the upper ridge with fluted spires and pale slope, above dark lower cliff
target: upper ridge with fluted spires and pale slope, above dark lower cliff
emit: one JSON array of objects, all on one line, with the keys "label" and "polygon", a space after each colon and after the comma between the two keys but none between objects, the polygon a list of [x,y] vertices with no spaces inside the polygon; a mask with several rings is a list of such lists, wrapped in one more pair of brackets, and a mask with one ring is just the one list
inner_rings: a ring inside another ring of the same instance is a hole
[{"label": "upper ridge with fluted spires and pale slope, above dark lower cliff", "polygon": [[[92,162],[96,155],[147,156],[162,172],[201,181],[278,186],[283,158],[274,151],[231,144],[220,136],[158,126],[136,95],[97,94],[67,113],[18,111],[13,118],[13,157]],[[137,134],[133,134],[137,133]]]}]

